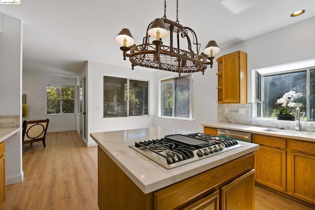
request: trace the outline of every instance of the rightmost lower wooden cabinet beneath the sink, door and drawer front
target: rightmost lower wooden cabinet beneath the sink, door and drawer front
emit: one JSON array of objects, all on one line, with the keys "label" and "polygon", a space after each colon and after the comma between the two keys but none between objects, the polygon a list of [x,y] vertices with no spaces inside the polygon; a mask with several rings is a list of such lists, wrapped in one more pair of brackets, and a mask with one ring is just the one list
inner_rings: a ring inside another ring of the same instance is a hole
[{"label": "rightmost lower wooden cabinet beneath the sink, door and drawer front", "polygon": [[315,143],[292,140],[288,159],[288,192],[315,205]]}]

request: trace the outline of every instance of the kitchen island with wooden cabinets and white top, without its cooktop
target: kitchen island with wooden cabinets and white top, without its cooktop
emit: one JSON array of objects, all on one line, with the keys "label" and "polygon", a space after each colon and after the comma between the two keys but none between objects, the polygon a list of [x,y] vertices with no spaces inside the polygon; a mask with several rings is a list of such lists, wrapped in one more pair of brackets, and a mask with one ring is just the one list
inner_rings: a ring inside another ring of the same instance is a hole
[{"label": "kitchen island with wooden cabinets and white top, without its cooktop", "polygon": [[[128,147],[187,133],[192,132],[165,127],[91,133],[98,145],[99,209],[183,209],[203,204],[224,209],[232,203],[253,208],[257,144],[240,142],[240,148],[169,170]],[[240,198],[240,192],[246,196]]]}]

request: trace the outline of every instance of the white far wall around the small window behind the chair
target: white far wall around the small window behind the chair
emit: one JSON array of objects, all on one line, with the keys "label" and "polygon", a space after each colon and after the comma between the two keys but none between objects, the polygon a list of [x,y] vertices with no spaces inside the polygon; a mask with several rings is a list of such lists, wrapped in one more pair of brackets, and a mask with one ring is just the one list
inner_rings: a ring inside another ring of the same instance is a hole
[{"label": "white far wall around the small window behind the chair", "polygon": [[[77,91],[76,78],[63,78],[46,75],[23,74],[22,93],[27,94],[27,105],[30,106],[27,119],[49,118],[47,132],[76,131],[78,99],[75,98],[74,114],[46,114],[46,84],[73,85]],[[75,93],[75,96],[78,95]]]}]

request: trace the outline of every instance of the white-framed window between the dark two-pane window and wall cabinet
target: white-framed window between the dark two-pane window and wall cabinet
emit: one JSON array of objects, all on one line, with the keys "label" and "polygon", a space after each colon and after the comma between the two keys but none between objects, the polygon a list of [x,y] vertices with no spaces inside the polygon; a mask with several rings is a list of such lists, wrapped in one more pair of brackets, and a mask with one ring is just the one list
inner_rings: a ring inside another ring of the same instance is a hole
[{"label": "white-framed window between the dark two-pane window and wall cabinet", "polygon": [[160,116],[192,119],[191,84],[191,74],[160,80]]}]

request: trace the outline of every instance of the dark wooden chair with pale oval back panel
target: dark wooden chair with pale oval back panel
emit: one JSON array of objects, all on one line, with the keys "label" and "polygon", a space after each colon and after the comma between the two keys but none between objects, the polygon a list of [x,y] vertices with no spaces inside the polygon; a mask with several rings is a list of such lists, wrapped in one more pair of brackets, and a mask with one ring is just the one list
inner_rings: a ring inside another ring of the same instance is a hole
[{"label": "dark wooden chair with pale oval back panel", "polygon": [[46,120],[24,120],[22,132],[22,144],[33,144],[36,141],[42,141],[46,147],[45,137],[49,119]]}]

